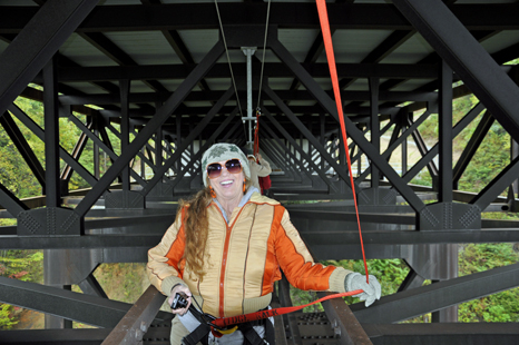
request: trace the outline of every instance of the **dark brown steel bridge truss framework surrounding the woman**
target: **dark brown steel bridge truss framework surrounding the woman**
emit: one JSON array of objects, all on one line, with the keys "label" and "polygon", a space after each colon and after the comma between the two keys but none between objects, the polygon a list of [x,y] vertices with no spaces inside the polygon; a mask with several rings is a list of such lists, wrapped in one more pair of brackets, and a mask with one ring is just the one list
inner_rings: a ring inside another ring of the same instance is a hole
[{"label": "dark brown steel bridge truss framework surrounding the woman", "polygon": [[[361,258],[315,3],[216,4],[0,0],[0,125],[42,190],[22,200],[0,184],[0,214],[18,224],[0,228],[0,249],[43,249],[46,279],[0,277],[0,302],[46,313],[49,328],[3,331],[0,343],[168,344],[172,315],[158,312],[164,296],[149,288],[134,306],[110,300],[92,272],[100,263],[147,260],[174,218],[166,203],[200,188],[200,157],[212,144],[251,140],[247,109],[256,106],[261,150],[278,168],[274,198],[329,200],[288,205],[294,225],[315,257]],[[518,210],[519,73],[505,63],[519,58],[519,2],[327,6],[366,255],[403,258],[411,272],[396,294],[369,308],[332,300],[324,314],[277,317],[278,344],[517,344],[517,323],[456,323],[456,306],[519,286],[519,264],[458,277],[457,258],[461,243],[519,241],[518,223],[481,218]],[[249,65],[247,48],[255,51]],[[470,93],[480,102],[453,126],[452,100]],[[45,130],[13,103],[19,96],[43,103]],[[427,147],[418,127],[432,114],[439,140]],[[452,139],[481,114],[453,161]],[[59,145],[59,117],[82,131],[74,151]],[[13,118],[45,141],[45,164]],[[494,122],[511,137],[510,162],[480,193],[458,190]],[[88,141],[94,172],[79,162]],[[411,142],[421,155],[415,162],[405,159]],[[396,150],[400,165],[391,160]],[[104,174],[101,154],[111,160]],[[422,169],[432,188],[410,184]],[[90,188],[69,190],[72,172]],[[63,207],[63,199],[77,205]],[[422,286],[424,279],[434,284]],[[291,304],[286,282],[276,304]],[[431,324],[398,324],[431,312]],[[99,328],[71,329],[72,321]]]}]

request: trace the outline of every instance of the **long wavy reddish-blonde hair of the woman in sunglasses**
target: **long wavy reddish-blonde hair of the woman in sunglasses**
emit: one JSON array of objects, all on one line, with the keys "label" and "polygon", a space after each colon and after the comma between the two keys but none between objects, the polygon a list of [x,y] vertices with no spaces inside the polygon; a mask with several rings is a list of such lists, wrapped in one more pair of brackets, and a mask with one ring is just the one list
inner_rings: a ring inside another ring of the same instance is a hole
[{"label": "long wavy reddish-blonde hair of the woman in sunglasses", "polygon": [[[252,186],[251,180],[245,177],[245,187],[248,189]],[[188,200],[180,200],[177,211],[178,217],[182,217],[182,210],[185,208],[185,216],[182,221],[184,223],[184,230],[186,234],[186,247],[184,249],[184,258],[186,266],[189,267],[189,276],[192,274],[197,276],[200,282],[205,276],[204,272],[204,256],[207,237],[209,234],[209,217],[207,215],[207,207],[213,201],[210,195],[210,184],[199,190],[195,196]]]}]

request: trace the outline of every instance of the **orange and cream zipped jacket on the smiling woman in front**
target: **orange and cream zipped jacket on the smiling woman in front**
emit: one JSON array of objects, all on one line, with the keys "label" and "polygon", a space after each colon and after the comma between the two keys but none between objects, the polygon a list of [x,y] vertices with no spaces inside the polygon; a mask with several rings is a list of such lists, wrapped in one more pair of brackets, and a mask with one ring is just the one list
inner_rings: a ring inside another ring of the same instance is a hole
[{"label": "orange and cream zipped jacket on the smiling woman in front", "polygon": [[300,289],[344,292],[344,278],[351,272],[314,263],[287,210],[276,200],[253,193],[228,223],[213,201],[208,217],[202,282],[189,275],[183,258],[183,217],[148,252],[148,277],[163,294],[169,296],[174,285],[185,284],[205,313],[228,317],[267,307],[280,269]]}]

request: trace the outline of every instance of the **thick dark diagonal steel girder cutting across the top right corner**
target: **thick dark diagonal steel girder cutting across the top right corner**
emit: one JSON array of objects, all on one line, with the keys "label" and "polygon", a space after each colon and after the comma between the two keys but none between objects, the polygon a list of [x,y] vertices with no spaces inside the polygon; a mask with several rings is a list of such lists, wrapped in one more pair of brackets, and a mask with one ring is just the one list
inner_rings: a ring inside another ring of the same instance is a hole
[{"label": "thick dark diagonal steel girder cutting across the top right corner", "polygon": [[441,0],[393,0],[393,3],[519,141],[518,86],[449,8]]}]

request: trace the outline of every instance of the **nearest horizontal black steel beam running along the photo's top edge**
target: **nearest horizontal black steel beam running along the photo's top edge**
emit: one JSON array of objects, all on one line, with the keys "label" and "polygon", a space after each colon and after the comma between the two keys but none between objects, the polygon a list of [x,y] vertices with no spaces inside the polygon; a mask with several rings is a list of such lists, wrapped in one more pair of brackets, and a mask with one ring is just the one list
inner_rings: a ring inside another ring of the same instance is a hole
[{"label": "nearest horizontal black steel beam running along the photo's top edge", "polygon": [[[267,4],[263,2],[219,3],[226,24],[265,24]],[[469,29],[513,30],[519,28],[517,3],[453,4],[452,12]],[[0,33],[19,32],[38,7],[2,7]],[[327,3],[330,24],[335,29],[413,30],[392,4]],[[286,29],[317,29],[315,4],[274,2],[270,24]],[[98,6],[78,28],[78,32],[218,29],[218,17],[212,3],[160,6]]]}]

